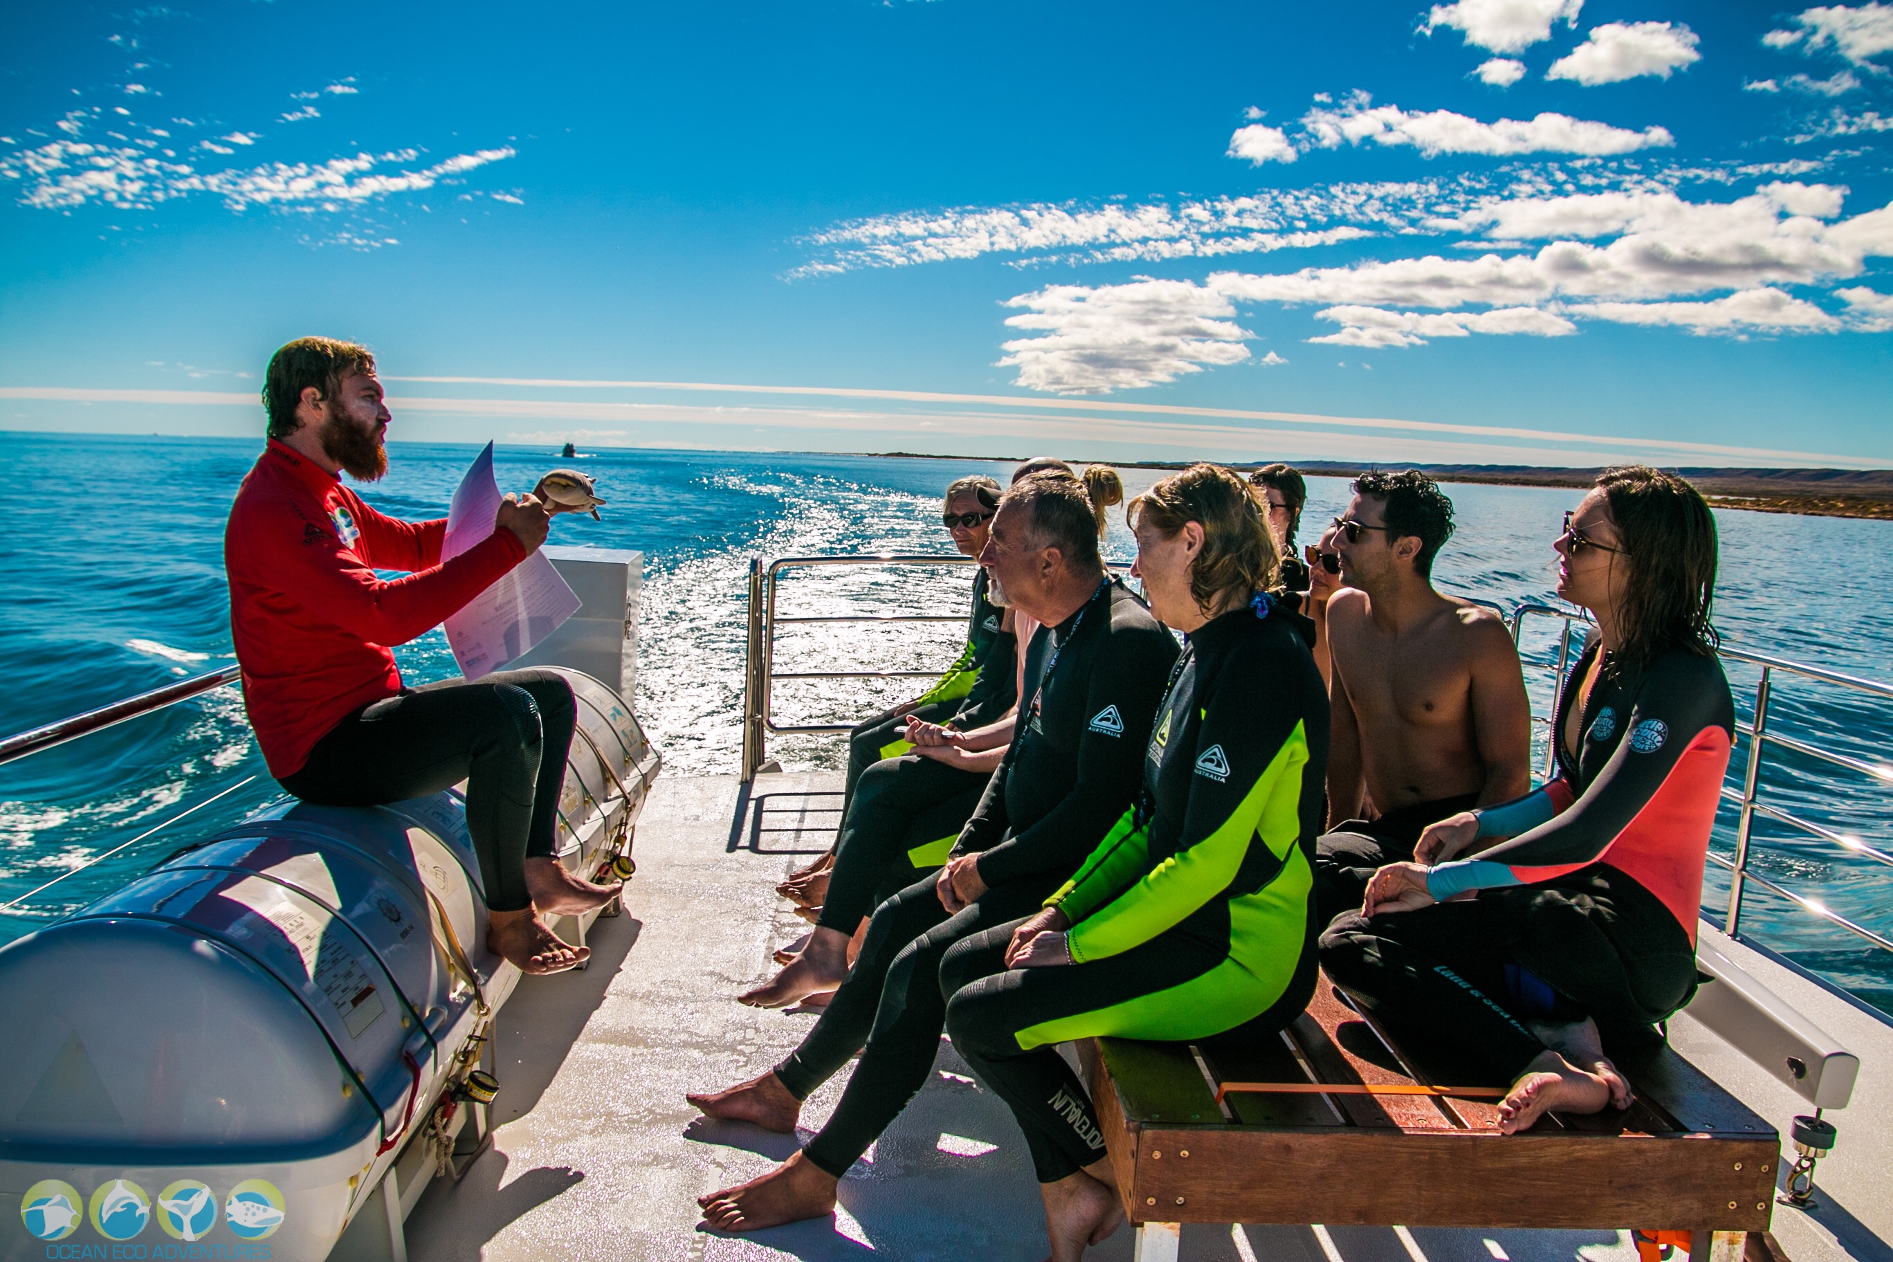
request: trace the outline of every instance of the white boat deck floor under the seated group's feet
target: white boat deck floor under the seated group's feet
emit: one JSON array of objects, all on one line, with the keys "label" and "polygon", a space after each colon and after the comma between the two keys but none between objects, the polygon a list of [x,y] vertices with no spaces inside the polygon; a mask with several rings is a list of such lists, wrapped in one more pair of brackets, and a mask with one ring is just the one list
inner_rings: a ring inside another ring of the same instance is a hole
[{"label": "white boat deck floor under the seated group's feet", "polygon": [[[1024,1141],[946,1043],[928,1088],[842,1181],[835,1218],[746,1237],[697,1232],[697,1196],[752,1179],[795,1148],[787,1135],[702,1120],[683,1092],[761,1073],[814,1020],[746,1008],[733,995],[767,978],[770,950],[806,929],[774,884],[827,846],[839,804],[837,774],[763,774],[750,791],[734,776],[657,781],[638,827],[627,914],[593,927],[591,967],[526,980],[500,1010],[494,1147],[458,1184],[426,1190],[407,1222],[415,1262],[1045,1254]],[[1819,1209],[1778,1205],[1776,1239],[1795,1262],[1893,1262],[1893,1029],[1738,944],[1725,950],[1863,1060],[1853,1103],[1829,1114],[1840,1141],[1819,1167]],[[1783,1133],[1808,1111],[1687,1016],[1672,1022],[1672,1043]],[[805,1124],[820,1126],[840,1086],[808,1101]],[[1130,1232],[1088,1256],[1130,1258]],[[1628,1230],[1187,1224],[1181,1256],[1636,1262],[1636,1249]]]}]

